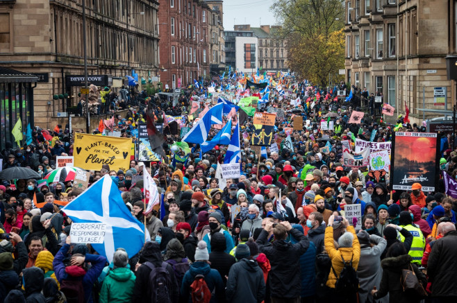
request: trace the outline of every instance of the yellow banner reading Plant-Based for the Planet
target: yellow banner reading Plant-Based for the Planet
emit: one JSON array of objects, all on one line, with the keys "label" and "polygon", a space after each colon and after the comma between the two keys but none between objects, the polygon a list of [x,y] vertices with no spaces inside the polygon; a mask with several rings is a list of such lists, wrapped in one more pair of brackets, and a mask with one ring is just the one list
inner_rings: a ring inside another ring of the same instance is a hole
[{"label": "yellow banner reading Plant-Based for the Planet", "polygon": [[99,171],[103,164],[115,171],[130,167],[132,139],[88,135],[81,132],[74,137],[74,166],[86,171]]}]

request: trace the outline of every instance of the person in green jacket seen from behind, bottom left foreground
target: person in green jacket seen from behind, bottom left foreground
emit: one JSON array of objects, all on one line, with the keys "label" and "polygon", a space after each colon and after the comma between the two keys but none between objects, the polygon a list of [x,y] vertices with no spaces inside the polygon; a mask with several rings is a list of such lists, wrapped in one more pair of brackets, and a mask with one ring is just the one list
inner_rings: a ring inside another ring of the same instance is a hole
[{"label": "person in green jacket seen from behind, bottom left foreground", "polygon": [[117,248],[113,255],[113,269],[108,271],[101,286],[100,303],[131,302],[136,277],[127,265],[126,250]]}]

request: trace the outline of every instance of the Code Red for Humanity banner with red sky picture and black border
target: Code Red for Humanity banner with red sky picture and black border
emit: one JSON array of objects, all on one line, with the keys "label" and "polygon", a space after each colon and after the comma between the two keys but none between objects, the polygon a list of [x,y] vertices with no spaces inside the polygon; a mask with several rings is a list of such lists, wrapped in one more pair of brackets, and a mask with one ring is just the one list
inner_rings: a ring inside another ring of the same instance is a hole
[{"label": "Code Red for Humanity banner with red sky picture and black border", "polygon": [[419,182],[422,191],[435,191],[440,179],[438,134],[431,132],[395,132],[390,160],[390,184],[393,189],[409,191]]}]

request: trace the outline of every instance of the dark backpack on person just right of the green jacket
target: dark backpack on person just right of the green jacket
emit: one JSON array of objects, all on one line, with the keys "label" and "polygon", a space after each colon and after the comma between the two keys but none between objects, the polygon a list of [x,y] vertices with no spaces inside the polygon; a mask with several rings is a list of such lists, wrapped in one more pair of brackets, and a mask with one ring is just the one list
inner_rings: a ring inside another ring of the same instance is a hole
[{"label": "dark backpack on person just right of the green jacket", "polygon": [[151,262],[144,263],[151,268],[149,273],[149,297],[153,303],[172,303],[173,282],[171,273],[167,270],[168,263],[162,262],[160,267],[156,267]]}]

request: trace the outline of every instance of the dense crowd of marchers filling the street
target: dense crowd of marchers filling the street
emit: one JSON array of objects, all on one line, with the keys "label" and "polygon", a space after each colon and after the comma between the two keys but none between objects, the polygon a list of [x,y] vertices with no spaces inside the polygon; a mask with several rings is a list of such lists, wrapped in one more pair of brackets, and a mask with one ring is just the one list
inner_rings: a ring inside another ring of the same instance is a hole
[{"label": "dense crowd of marchers filling the street", "polygon": [[[90,184],[104,175],[112,178],[151,237],[134,256],[118,248],[110,263],[90,244],[72,243],[72,220],[56,204],[81,193],[71,181],[1,180],[0,302],[456,302],[457,204],[444,194],[441,180],[434,193],[424,193],[420,183],[411,191],[394,191],[388,174],[342,165],[342,140],[354,148],[354,138],[367,140],[372,130],[377,130],[372,141],[383,142],[394,128],[418,132],[422,125],[403,123],[401,116],[397,125],[388,125],[369,115],[349,123],[351,111],[361,105],[356,98],[338,100],[336,90],[344,88],[343,83],[333,89],[292,85],[301,96],[294,105],[274,92],[259,111],[284,112],[275,125],[279,152],[267,148],[260,154],[242,139],[237,179],[216,178],[226,146],[202,156],[198,144],[181,142],[176,150],[170,147],[181,139],[172,130],[164,130],[165,153],[170,159],[186,157],[185,162],[133,159],[126,171],[107,165],[91,171]],[[202,100],[203,109],[206,94],[192,86],[183,89],[176,105],[154,97],[148,105],[158,123],[165,115],[188,116],[195,100]],[[311,106],[307,98],[317,95]],[[132,137],[146,119],[137,110],[115,117],[113,128],[122,137]],[[327,112],[335,113],[333,130],[320,128]],[[288,148],[285,128],[292,115],[310,123],[290,134]],[[253,135],[251,117],[241,128]],[[212,129],[208,137],[216,133]],[[457,149],[450,137],[444,139],[440,168],[455,178]],[[3,170],[29,167],[44,178],[60,155],[73,155],[73,139],[67,127],[56,125],[35,128],[22,148],[7,143],[0,157]],[[143,166],[163,193],[163,207],[148,213],[138,178]],[[344,215],[346,205],[360,205],[360,230]]]}]

